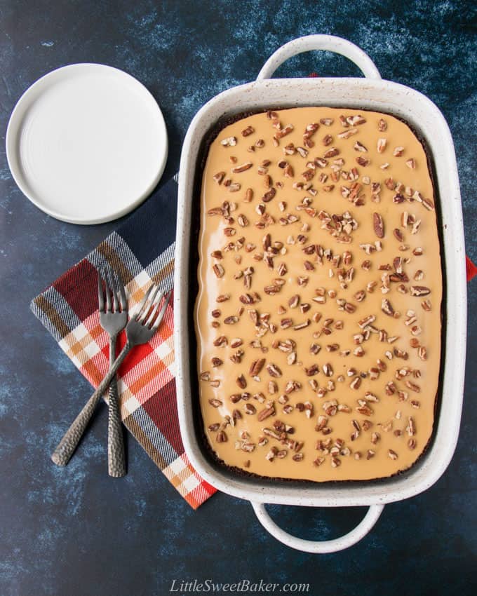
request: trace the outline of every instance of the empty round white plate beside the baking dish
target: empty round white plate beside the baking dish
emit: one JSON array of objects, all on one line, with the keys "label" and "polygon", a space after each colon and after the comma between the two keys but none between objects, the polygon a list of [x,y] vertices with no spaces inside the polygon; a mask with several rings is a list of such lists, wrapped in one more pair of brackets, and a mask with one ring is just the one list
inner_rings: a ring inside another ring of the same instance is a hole
[{"label": "empty round white plate beside the baking dish", "polygon": [[8,123],[22,192],[49,215],[100,224],[133,210],[161,178],[166,124],[154,97],[119,69],[77,64],[36,81]]}]

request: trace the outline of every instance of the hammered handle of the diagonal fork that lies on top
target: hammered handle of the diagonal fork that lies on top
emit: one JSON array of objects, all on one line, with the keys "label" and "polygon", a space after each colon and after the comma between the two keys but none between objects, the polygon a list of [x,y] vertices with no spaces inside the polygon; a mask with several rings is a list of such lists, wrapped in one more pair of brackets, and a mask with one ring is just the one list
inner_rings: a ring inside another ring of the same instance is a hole
[{"label": "hammered handle of the diagonal fork that lies on top", "polygon": [[106,388],[109,386],[109,383],[111,383],[112,378],[123,363],[123,360],[126,358],[126,355],[128,354],[128,351],[130,351],[131,347],[132,346],[127,341],[126,345],[121,350],[121,353],[109,368],[109,372],[107,373],[106,377],[102,379],[96,391],[93,393],[93,395],[91,395],[89,400],[86,402],[86,405],[84,405],[81,412],[79,412],[78,416],[76,416],[74,419],[73,424],[68,428],[65,435],[63,435],[62,440],[60,440],[58,443],[58,446],[51,455],[53,463],[56,463],[57,466],[66,466],[69,462],[69,459],[73,455],[74,450],[78,446],[78,443],[83,436],[86,426],[88,426],[91,416],[93,416],[102,394],[105,393]]}]

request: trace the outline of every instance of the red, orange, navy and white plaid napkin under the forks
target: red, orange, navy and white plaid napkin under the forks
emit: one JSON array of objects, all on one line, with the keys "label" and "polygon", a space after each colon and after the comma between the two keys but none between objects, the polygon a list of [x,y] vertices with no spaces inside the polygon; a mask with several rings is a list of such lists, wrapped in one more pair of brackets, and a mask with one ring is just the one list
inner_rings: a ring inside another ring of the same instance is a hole
[{"label": "red, orange, navy and white plaid napkin under the forks", "polygon": [[[173,179],[32,301],[34,314],[95,387],[109,367],[109,336],[100,325],[98,311],[97,268],[109,264],[120,274],[130,311],[151,282],[170,290],[176,206],[177,182]],[[119,350],[125,342],[122,332]],[[215,489],[192,468],[180,438],[172,304],[159,332],[148,344],[134,348],[119,369],[118,391],[126,428],[187,503],[199,507]],[[79,409],[82,405],[78,404]]]}]

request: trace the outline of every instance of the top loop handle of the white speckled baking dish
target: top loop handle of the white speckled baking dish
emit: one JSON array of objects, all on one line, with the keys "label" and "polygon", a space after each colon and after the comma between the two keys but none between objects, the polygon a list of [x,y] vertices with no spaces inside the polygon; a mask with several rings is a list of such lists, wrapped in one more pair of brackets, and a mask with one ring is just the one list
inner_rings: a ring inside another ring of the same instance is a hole
[{"label": "top loop handle of the white speckled baking dish", "polygon": [[367,79],[381,79],[379,70],[368,54],[351,41],[335,35],[307,35],[288,41],[284,46],[278,48],[263,65],[262,70],[258,73],[257,81],[271,79],[276,69],[285,60],[310,50],[327,50],[328,52],[341,54],[354,62]]}]

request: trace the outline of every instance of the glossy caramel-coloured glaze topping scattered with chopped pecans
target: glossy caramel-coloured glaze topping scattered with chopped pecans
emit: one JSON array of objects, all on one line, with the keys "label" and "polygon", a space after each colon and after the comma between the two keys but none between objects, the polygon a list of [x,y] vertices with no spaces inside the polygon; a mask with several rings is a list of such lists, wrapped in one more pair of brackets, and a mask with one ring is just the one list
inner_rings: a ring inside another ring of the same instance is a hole
[{"label": "glossy caramel-coloured glaze topping scattered with chopped pecans", "polygon": [[434,424],[442,276],[422,144],[372,111],[255,114],[201,191],[201,412],[217,456],[273,478],[412,466]]}]

